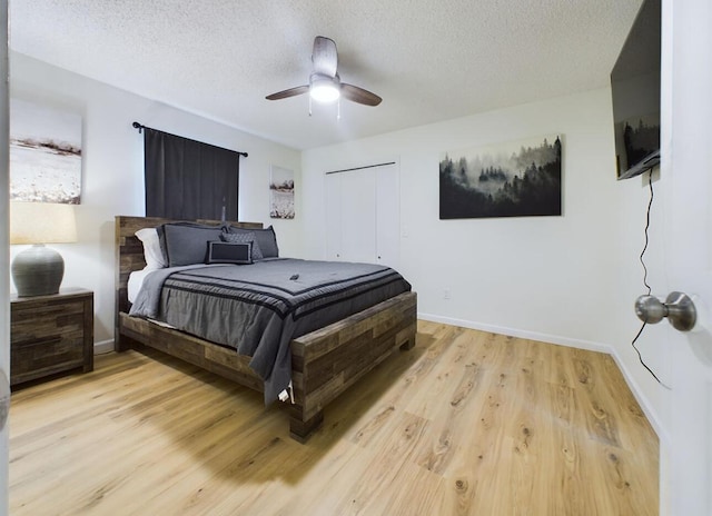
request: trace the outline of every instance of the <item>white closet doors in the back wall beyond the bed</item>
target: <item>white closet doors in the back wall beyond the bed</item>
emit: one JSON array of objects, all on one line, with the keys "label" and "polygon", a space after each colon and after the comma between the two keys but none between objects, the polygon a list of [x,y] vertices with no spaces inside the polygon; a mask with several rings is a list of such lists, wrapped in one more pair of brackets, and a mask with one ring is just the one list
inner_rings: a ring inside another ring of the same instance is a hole
[{"label": "white closet doors in the back wall beyond the bed", "polygon": [[326,175],[327,259],[396,267],[398,238],[395,165]]}]

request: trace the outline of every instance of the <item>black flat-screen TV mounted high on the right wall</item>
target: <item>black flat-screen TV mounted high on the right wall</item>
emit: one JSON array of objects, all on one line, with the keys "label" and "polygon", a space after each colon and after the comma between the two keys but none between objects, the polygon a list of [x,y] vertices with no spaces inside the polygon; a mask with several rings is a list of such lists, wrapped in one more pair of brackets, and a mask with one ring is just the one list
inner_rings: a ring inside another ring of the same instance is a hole
[{"label": "black flat-screen TV mounted high on the right wall", "polygon": [[619,179],[660,162],[661,0],[643,0],[611,72]]}]

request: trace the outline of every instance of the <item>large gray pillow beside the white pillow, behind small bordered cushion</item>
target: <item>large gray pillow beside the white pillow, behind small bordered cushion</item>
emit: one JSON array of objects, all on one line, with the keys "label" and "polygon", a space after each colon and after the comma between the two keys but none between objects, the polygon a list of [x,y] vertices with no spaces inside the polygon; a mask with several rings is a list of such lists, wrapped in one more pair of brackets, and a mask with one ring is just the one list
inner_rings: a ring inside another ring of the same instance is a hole
[{"label": "large gray pillow beside the white pillow, behind small bordered cushion", "polygon": [[222,229],[219,226],[190,222],[169,222],[158,228],[168,267],[205,264],[208,241],[219,240],[220,235]]}]

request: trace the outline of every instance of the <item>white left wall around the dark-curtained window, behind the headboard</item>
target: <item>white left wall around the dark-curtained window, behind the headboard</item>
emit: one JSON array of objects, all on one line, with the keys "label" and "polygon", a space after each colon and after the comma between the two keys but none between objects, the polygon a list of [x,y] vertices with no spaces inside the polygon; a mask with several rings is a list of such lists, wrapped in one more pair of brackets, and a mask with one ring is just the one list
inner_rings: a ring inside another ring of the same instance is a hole
[{"label": "white left wall around the dark-curtained window, behind the headboard", "polygon": [[[113,218],[145,215],[144,137],[131,127],[135,120],[248,152],[248,158],[240,158],[239,218],[273,224],[280,251],[296,252],[297,222],[269,218],[269,169],[277,165],[295,170],[298,192],[298,151],[16,52],[11,53],[10,76],[11,97],[70,110],[83,119],[82,192],[77,207],[79,242],[52,247],[65,257],[62,285],[95,291],[95,343],[113,338]],[[298,197],[296,210],[298,217]],[[12,246],[12,254],[21,248]]]}]

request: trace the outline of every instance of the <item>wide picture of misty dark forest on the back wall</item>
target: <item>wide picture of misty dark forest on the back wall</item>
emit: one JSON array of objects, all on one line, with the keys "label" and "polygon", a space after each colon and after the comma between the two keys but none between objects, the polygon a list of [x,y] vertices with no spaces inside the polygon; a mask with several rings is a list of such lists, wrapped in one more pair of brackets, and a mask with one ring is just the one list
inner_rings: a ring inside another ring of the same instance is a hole
[{"label": "wide picture of misty dark forest on the back wall", "polygon": [[441,219],[562,214],[561,136],[455,150],[441,159]]}]

